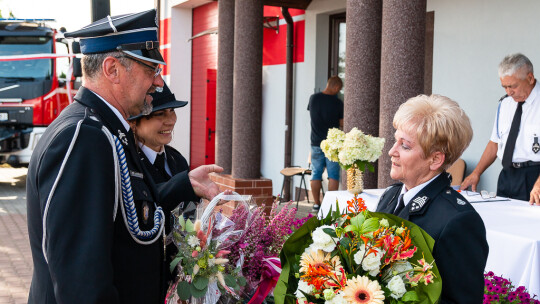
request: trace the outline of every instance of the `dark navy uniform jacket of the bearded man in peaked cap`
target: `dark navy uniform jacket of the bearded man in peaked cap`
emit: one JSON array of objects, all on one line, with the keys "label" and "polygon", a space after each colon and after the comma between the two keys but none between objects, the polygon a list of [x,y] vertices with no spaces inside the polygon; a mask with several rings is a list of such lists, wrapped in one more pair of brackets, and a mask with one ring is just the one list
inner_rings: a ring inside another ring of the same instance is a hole
[{"label": "dark navy uniform jacket of the bearded man in peaked cap", "polygon": [[[179,201],[196,200],[187,171],[156,185],[141,164],[131,132],[111,109],[84,87],[75,100],[47,128],[28,168],[27,216],[34,262],[28,303],[162,304],[163,239],[137,243],[126,228],[121,206],[115,209],[113,149],[102,127],[126,139],[123,148],[141,230],[154,225],[154,202],[168,216]],[[71,156],[47,202],[81,119]],[[143,205],[150,208],[146,221]]]}]

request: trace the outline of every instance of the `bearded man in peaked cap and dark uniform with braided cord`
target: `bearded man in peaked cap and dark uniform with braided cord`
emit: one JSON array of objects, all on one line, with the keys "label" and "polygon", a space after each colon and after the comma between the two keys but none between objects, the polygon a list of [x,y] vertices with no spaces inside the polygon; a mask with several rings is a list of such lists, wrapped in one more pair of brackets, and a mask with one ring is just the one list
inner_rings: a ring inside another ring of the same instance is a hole
[{"label": "bearded man in peaked cap and dark uniform with braided cord", "polygon": [[156,186],[126,118],[163,87],[156,12],[108,17],[81,38],[83,87],[47,128],[28,168],[34,273],[28,303],[163,303],[164,216],[212,198],[215,165]]}]

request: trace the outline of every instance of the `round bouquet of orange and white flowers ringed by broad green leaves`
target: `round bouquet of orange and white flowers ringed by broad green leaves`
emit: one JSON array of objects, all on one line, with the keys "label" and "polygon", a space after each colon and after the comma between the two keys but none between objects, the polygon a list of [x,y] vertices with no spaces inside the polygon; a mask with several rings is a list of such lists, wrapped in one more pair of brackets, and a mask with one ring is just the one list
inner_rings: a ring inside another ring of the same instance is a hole
[{"label": "round bouquet of orange and white flowers ringed by broad green leaves", "polygon": [[344,214],[311,218],[281,251],[276,303],[435,303],[442,283],[434,240],[392,214],[369,212],[362,198]]}]

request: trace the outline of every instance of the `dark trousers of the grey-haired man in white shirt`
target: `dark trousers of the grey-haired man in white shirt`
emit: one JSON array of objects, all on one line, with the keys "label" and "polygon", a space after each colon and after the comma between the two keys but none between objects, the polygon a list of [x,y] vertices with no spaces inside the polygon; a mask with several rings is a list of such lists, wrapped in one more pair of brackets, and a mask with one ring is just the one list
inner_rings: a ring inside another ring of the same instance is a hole
[{"label": "dark trousers of the grey-haired man in white shirt", "polygon": [[528,201],[538,176],[540,166],[503,168],[497,182],[497,195]]}]

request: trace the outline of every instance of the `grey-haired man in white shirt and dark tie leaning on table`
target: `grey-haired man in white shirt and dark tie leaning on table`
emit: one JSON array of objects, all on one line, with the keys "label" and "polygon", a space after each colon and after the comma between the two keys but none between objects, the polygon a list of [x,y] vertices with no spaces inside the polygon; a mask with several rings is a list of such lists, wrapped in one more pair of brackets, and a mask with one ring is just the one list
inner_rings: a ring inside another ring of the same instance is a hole
[{"label": "grey-haired man in white shirt and dark tie leaning on table", "polygon": [[499,102],[486,149],[461,189],[471,186],[476,191],[480,175],[499,157],[503,169],[497,195],[540,206],[540,85],[531,61],[519,53],[501,61],[499,78],[506,95]]}]

